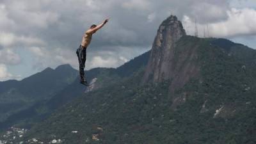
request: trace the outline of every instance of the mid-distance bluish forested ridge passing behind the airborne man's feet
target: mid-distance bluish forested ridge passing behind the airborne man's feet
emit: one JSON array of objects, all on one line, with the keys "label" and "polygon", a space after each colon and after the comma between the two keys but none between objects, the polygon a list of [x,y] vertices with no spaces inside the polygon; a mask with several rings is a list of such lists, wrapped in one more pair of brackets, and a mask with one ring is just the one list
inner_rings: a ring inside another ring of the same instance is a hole
[{"label": "mid-distance bluish forested ridge passing behind the airborne man's feet", "polygon": [[[92,84],[93,88],[90,89],[96,90],[97,88],[106,87],[108,84],[116,83],[124,77],[131,76],[133,72],[137,72],[139,68],[147,65],[149,53],[145,52],[145,54],[141,54],[141,56],[134,58],[118,68],[93,68],[92,70],[88,70],[86,77],[89,82],[97,78],[97,81]],[[60,73],[67,73],[67,70],[62,68]],[[54,93],[51,98],[40,100],[28,108],[13,113],[6,120],[0,122],[0,128],[4,129],[12,125],[15,125],[15,127],[29,128],[36,122],[41,122],[44,118],[47,118],[55,109],[71,102],[87,91],[86,87],[79,83],[79,77],[77,77],[72,83],[63,87],[62,90]]]}]

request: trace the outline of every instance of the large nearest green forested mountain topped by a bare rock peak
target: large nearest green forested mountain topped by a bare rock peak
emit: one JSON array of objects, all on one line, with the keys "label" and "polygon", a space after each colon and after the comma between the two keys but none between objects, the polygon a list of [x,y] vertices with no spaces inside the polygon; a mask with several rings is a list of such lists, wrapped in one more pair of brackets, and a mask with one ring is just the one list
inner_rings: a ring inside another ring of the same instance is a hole
[{"label": "large nearest green forested mountain topped by a bare rock peak", "polygon": [[76,99],[10,141],[256,143],[256,51],[188,36],[173,15],[159,26],[150,54],[94,78],[92,91],[63,91]]}]

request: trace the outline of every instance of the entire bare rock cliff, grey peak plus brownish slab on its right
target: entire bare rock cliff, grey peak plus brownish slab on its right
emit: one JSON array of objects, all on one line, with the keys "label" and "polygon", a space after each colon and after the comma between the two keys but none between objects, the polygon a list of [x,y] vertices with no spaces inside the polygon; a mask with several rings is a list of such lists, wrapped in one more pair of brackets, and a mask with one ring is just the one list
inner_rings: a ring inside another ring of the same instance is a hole
[{"label": "entire bare rock cliff, grey peak plus brownish slab on its right", "polygon": [[[170,79],[173,81],[170,89],[175,90],[198,74],[199,67],[192,61],[196,58],[196,45],[188,45],[191,48],[179,52],[177,42],[183,36],[186,36],[186,32],[177,17],[171,15],[162,22],[152,46],[143,83]],[[186,44],[182,46],[186,47]]]}]

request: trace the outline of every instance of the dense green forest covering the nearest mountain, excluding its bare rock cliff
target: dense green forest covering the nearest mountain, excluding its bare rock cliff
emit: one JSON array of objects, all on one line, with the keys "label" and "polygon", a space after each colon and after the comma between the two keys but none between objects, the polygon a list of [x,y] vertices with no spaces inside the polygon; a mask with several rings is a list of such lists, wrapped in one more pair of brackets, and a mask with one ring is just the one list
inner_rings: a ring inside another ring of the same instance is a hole
[{"label": "dense green forest covering the nearest mountain, excluding its bare rock cliff", "polygon": [[225,39],[184,36],[177,43],[177,54],[188,51],[182,45],[198,47],[195,61],[200,76],[180,90],[168,92],[172,79],[141,85],[141,67],[132,76],[63,106],[23,140],[256,143],[255,50]]}]

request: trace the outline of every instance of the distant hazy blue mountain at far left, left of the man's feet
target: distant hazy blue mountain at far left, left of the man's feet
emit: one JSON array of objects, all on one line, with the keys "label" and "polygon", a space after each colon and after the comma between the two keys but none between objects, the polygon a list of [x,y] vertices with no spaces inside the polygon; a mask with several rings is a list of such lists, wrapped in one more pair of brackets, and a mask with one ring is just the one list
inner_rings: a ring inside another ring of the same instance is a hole
[{"label": "distant hazy blue mountain at far left, left of the man's feet", "polygon": [[61,65],[55,70],[46,68],[22,81],[0,82],[0,122],[40,100],[50,99],[56,92],[73,83],[76,77],[77,70],[70,65]]}]

